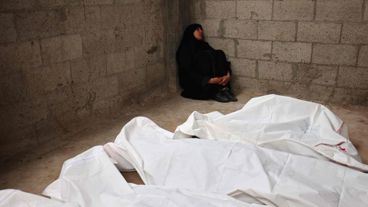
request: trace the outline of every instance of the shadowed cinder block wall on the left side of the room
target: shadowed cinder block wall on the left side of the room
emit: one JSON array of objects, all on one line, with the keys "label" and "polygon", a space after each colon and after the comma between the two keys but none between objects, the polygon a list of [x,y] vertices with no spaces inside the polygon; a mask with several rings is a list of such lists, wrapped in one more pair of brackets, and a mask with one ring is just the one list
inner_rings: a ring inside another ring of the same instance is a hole
[{"label": "shadowed cinder block wall on the left side of the room", "polygon": [[163,5],[1,0],[0,158],[162,94]]}]

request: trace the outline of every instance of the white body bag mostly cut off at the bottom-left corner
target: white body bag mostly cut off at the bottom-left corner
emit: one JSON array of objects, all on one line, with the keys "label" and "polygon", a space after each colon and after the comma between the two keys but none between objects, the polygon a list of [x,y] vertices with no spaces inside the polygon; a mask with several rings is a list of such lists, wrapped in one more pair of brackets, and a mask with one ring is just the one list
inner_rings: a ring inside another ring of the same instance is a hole
[{"label": "white body bag mostly cut off at the bottom-left corner", "polygon": [[21,190],[0,190],[0,207],[79,207],[73,203],[61,203]]}]

